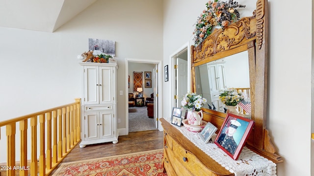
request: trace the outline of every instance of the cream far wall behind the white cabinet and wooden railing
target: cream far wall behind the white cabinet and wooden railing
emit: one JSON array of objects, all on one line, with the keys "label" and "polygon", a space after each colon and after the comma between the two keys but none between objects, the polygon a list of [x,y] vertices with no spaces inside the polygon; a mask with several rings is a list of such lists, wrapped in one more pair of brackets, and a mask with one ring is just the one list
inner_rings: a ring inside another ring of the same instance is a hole
[{"label": "cream far wall behind the white cabinet and wooden railing", "polygon": [[[123,90],[123,96],[118,91],[118,128],[125,128],[125,58],[162,59],[159,0],[98,0],[53,33],[0,27],[0,121],[81,97],[77,56],[88,50],[88,38],[116,42],[117,90]],[[3,130],[0,146],[5,146]]]}]

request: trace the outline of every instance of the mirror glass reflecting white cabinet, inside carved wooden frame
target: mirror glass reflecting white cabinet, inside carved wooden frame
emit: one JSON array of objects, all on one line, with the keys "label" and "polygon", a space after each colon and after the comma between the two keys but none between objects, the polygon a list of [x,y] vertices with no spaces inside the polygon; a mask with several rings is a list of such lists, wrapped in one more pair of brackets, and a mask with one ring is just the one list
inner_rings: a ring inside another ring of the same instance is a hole
[{"label": "mirror glass reflecting white cabinet, inside carved wooden frame", "polygon": [[[222,90],[235,88],[243,92],[242,103],[250,103],[250,72],[248,52],[243,51],[195,67],[196,92],[207,99],[204,108],[226,112],[227,107],[219,100]],[[250,112],[239,108],[242,116],[250,116]]]}]

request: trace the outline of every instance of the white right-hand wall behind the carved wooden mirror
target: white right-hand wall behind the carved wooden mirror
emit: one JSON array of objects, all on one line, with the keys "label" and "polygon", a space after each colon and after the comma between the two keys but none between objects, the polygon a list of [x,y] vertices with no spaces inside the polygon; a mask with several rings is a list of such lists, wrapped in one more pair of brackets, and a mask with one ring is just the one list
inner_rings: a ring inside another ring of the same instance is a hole
[{"label": "white right-hand wall behind the carved wooden mirror", "polygon": [[[192,41],[193,24],[207,1],[164,0],[164,65],[169,65],[173,52]],[[240,10],[241,16],[251,16],[256,1],[237,1],[247,5],[245,12]],[[297,4],[302,4],[302,15],[296,12],[295,1],[269,0],[267,129],[284,160],[277,165],[278,176],[310,176],[311,169],[312,3]],[[171,88],[171,81],[164,82],[164,90]],[[171,97],[170,92],[163,92],[163,116],[167,117]]]}]

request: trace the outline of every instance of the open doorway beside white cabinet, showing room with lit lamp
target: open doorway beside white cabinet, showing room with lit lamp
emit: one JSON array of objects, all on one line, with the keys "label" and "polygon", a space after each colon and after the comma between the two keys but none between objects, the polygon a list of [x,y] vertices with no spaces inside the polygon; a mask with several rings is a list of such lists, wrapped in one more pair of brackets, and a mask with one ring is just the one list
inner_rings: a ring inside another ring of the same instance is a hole
[{"label": "open doorway beside white cabinet, showing room with lit lamp", "polygon": [[126,133],[159,128],[161,61],[126,59]]}]

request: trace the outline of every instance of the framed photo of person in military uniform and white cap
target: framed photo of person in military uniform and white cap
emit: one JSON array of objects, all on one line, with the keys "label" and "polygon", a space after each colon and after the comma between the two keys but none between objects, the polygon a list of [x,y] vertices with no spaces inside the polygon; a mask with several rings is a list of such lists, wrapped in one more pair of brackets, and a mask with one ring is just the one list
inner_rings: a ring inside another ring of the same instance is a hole
[{"label": "framed photo of person in military uniform and white cap", "polygon": [[253,120],[228,113],[214,143],[237,160],[253,126]]}]

